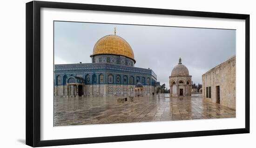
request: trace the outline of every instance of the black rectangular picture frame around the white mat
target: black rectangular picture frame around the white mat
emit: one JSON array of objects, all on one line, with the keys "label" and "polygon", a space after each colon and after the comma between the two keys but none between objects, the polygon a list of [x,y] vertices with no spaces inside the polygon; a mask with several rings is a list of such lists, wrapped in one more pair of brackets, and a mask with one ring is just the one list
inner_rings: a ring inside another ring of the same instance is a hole
[{"label": "black rectangular picture frame around the white mat", "polygon": [[[245,20],[245,128],[177,132],[163,134],[121,135],[108,137],[40,140],[40,8],[62,8],[124,13],[148,13],[191,17]],[[164,138],[229,135],[249,133],[249,15],[199,11],[120,7],[78,3],[31,1],[26,3],[26,144],[32,147],[86,143],[136,141]]]}]

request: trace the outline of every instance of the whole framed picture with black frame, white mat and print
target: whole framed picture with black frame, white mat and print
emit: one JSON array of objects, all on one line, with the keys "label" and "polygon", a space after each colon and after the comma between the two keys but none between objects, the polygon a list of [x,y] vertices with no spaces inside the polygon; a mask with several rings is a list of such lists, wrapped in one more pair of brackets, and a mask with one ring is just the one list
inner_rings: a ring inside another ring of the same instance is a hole
[{"label": "whole framed picture with black frame, white mat and print", "polygon": [[31,1],[26,144],[249,133],[249,15]]}]

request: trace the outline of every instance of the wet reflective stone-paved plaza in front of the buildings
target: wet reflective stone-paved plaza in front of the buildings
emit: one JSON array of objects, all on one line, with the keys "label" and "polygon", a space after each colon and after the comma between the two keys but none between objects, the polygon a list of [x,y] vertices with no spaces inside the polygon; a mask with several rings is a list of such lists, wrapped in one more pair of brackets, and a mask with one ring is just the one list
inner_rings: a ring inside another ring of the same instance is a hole
[{"label": "wet reflective stone-paved plaza in front of the buildings", "polygon": [[118,102],[116,97],[54,97],[54,126],[235,118],[236,110],[202,97],[159,94]]}]

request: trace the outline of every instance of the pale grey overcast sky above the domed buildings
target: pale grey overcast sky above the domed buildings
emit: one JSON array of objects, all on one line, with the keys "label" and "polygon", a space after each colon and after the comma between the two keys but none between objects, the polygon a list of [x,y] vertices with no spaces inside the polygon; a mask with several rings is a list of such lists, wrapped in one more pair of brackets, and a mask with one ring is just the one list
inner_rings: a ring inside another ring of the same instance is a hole
[{"label": "pale grey overcast sky above the domed buildings", "polygon": [[202,74],[236,54],[236,30],[55,21],[54,64],[91,63],[94,44],[114,27],[132,47],[135,67],[153,69],[167,87],[180,57],[192,81],[202,84]]}]

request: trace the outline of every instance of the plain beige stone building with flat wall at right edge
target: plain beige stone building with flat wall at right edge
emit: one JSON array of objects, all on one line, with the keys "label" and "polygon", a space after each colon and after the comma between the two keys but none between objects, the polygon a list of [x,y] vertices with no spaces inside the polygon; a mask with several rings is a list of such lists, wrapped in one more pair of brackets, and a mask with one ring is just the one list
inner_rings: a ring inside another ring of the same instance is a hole
[{"label": "plain beige stone building with flat wall at right edge", "polygon": [[202,96],[236,109],[236,56],[202,75]]}]

